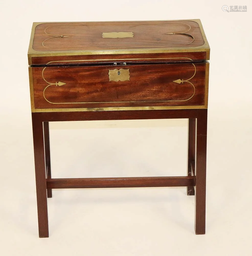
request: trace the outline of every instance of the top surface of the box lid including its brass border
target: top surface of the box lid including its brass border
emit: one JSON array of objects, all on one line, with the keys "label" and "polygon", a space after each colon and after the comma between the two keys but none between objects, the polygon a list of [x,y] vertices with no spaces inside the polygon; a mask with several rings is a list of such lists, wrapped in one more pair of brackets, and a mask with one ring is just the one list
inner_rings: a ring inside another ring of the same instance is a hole
[{"label": "top surface of the box lid including its brass border", "polygon": [[34,23],[29,57],[207,52],[199,19]]}]

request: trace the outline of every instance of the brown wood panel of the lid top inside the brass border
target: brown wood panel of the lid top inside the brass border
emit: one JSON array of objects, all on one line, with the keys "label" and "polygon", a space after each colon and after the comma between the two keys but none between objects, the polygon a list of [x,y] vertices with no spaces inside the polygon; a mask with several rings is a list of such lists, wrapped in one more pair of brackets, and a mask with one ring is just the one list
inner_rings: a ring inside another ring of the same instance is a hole
[{"label": "brown wood panel of the lid top inside the brass border", "polygon": [[[133,32],[133,37],[103,38],[104,32]],[[44,23],[35,29],[33,49],[42,52],[133,50],[190,48],[203,44],[198,23],[190,20]]]}]

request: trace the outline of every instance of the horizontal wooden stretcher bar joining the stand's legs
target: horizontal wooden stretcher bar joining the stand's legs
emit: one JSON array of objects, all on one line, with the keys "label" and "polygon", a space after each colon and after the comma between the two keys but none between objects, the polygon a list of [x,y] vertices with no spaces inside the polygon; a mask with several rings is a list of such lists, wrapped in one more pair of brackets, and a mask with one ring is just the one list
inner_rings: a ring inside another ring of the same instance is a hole
[{"label": "horizontal wooden stretcher bar joining the stand's legs", "polygon": [[187,176],[47,179],[48,188],[182,187],[194,185],[194,177]]}]

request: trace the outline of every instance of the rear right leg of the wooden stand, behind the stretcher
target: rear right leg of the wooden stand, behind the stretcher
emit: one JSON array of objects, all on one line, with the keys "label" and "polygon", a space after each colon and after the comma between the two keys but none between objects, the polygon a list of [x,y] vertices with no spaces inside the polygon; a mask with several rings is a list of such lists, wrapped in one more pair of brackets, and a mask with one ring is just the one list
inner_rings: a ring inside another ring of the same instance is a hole
[{"label": "rear right leg of the wooden stand, behind the stretcher", "polygon": [[[188,176],[193,176],[192,166],[195,164],[196,119],[189,118],[188,123]],[[187,187],[187,195],[194,196],[194,187]]]}]

